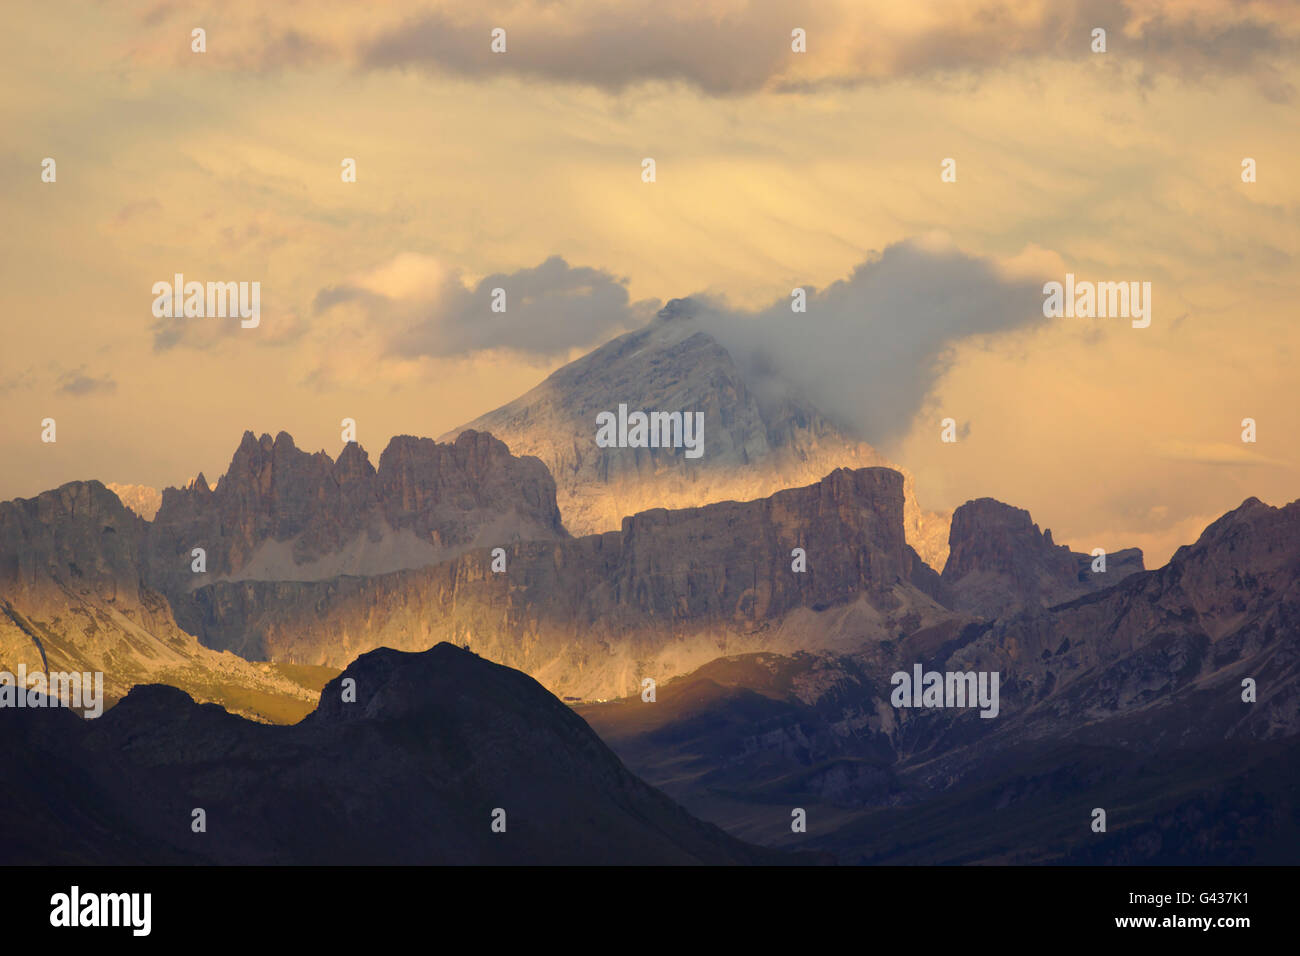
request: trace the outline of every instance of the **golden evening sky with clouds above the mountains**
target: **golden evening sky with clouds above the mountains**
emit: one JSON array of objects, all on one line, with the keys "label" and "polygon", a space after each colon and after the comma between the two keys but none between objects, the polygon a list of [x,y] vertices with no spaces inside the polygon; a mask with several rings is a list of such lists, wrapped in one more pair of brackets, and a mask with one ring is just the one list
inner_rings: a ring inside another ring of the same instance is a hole
[{"label": "golden evening sky with clouds above the mountains", "polygon": [[[211,479],[244,429],[337,454],[343,418],[377,458],[682,297],[928,509],[996,497],[1152,567],[1248,497],[1300,497],[1295,4],[53,0],[6,21],[0,499]],[[1150,282],[1149,328],[1045,317],[1067,272]],[[176,273],[260,282],[260,324],[155,316]]]}]

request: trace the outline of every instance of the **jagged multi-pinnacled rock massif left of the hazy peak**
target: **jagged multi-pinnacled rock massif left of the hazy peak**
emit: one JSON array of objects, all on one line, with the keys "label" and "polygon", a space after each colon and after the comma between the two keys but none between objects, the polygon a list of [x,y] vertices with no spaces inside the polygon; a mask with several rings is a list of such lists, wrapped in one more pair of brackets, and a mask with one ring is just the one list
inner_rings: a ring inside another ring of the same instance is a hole
[{"label": "jagged multi-pinnacled rock massif left of the hazy peak", "polygon": [[[150,576],[178,600],[202,581],[321,580],[446,561],[472,548],[564,537],[555,483],[490,434],[452,444],[399,436],[376,470],[360,445],[338,460],[281,432],[246,432],[225,477],[169,488],[150,527]],[[191,551],[207,553],[207,572]]]}]

